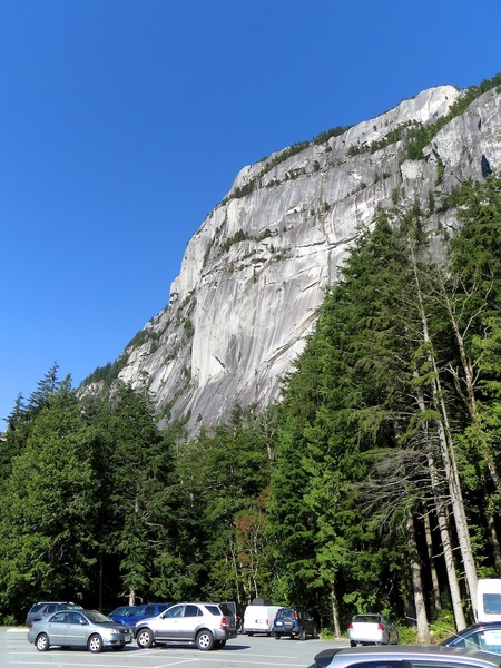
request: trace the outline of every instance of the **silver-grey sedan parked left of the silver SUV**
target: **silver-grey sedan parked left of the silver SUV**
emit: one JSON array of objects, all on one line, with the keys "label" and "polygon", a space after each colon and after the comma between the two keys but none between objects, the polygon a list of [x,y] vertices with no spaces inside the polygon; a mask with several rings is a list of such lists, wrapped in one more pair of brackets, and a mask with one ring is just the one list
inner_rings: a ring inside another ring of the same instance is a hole
[{"label": "silver-grey sedan parked left of the silver SUV", "polygon": [[121,649],[132,641],[132,629],[97,610],[61,610],[31,625],[28,641],[39,651],[49,647],[82,647],[91,652]]}]

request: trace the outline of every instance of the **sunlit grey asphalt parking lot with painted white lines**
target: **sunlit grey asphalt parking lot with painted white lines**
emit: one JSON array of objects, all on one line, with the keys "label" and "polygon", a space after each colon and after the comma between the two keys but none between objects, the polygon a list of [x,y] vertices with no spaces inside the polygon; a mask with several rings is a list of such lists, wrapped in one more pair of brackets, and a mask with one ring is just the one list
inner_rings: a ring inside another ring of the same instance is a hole
[{"label": "sunlit grey asphalt parking lot with painted white lines", "polygon": [[0,666],[2,668],[307,668],[313,657],[327,647],[347,645],[336,640],[291,640],[266,636],[238,636],[224,649],[200,651],[195,647],[169,646],[138,649],[136,644],[121,651],[92,655],[88,651],[55,648],[39,652],[26,639],[26,629],[0,628]]}]

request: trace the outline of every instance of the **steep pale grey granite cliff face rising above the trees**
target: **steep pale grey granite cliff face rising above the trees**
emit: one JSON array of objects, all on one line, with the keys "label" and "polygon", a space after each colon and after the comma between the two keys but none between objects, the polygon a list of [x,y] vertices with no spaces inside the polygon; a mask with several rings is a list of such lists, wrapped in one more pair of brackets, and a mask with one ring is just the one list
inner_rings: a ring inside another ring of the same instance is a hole
[{"label": "steep pale grey granite cliff face rising above the trees", "polygon": [[[499,77],[499,76],[498,76]],[[189,240],[168,305],[80,389],[148,389],[189,434],[265,406],[315,324],[346,250],[380,209],[420,206],[440,256],[446,195],[501,167],[501,81],[440,86],[244,167]]]}]

